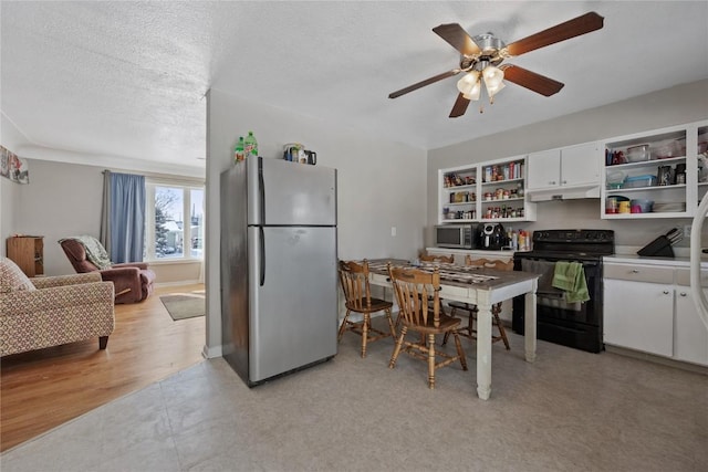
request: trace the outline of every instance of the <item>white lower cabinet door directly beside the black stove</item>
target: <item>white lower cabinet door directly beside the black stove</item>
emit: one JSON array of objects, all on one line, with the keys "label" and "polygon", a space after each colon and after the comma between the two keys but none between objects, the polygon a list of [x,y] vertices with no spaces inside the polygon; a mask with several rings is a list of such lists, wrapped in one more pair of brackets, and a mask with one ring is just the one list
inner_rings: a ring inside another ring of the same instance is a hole
[{"label": "white lower cabinet door directly beside the black stove", "polygon": [[670,357],[674,285],[604,280],[604,342]]}]

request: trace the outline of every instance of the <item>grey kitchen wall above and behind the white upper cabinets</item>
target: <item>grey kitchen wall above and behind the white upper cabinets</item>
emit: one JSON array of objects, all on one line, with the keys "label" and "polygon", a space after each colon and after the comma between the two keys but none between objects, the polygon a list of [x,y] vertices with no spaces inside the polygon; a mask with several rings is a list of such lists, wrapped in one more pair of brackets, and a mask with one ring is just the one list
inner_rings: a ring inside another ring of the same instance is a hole
[{"label": "grey kitchen wall above and behind the white upper cabinets", "polygon": [[[563,92],[561,92],[562,94]],[[503,99],[500,96],[499,99]],[[477,116],[475,119],[483,119]],[[642,95],[556,119],[537,123],[497,135],[431,149],[428,153],[426,242],[433,242],[437,223],[438,169],[469,162],[518,156],[572,144],[641,133],[708,118],[708,80]],[[601,220],[600,200],[568,200],[538,203],[538,221],[516,223],[514,229],[597,228],[615,231],[617,245],[645,245],[674,225],[690,219]],[[680,245],[688,247],[688,238]]]}]

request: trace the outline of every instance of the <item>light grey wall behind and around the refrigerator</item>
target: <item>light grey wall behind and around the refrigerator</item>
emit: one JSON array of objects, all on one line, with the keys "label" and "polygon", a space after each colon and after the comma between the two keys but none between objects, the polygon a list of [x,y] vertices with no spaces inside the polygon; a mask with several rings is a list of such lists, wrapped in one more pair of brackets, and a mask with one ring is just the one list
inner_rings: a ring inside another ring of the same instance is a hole
[{"label": "light grey wall behind and around the refrigerator", "polygon": [[[233,145],[249,130],[258,138],[263,157],[282,158],[283,145],[296,141],[317,153],[319,166],[337,169],[340,259],[410,259],[423,248],[424,149],[218,90],[207,97],[207,355],[218,356],[221,345],[219,174],[231,166]],[[391,235],[392,227],[397,229],[396,237]]]}]

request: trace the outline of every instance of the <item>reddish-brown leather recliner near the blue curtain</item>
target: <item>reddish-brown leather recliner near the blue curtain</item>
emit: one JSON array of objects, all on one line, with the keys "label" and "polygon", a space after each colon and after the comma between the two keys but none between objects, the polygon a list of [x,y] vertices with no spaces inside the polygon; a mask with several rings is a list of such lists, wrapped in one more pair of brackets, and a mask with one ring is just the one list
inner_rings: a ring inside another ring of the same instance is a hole
[{"label": "reddish-brown leather recliner near the blue curtain", "polygon": [[[59,241],[76,273],[98,272],[104,281],[115,285],[115,303],[136,303],[153,293],[155,272],[145,262],[111,264],[100,269],[91,261],[86,248],[79,238],[66,238]],[[95,241],[96,244],[101,244]],[[103,251],[103,247],[101,247]]]}]

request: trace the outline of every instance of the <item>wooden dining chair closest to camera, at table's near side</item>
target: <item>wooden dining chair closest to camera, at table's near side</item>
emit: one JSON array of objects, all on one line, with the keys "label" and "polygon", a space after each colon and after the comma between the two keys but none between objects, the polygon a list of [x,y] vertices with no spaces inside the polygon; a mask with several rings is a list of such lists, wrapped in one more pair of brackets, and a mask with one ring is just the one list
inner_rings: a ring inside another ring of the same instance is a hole
[{"label": "wooden dining chair closest to camera, at table's near side", "polygon": [[[403,314],[403,326],[388,367],[392,369],[396,367],[396,360],[402,349],[413,357],[427,360],[429,388],[435,388],[435,370],[440,367],[459,360],[462,370],[467,370],[467,359],[456,331],[461,319],[442,313],[439,303],[439,270],[436,268],[430,273],[418,269],[392,268],[389,264],[388,275],[394,286],[398,308]],[[424,302],[428,296],[433,296],[431,304]],[[406,334],[409,331],[420,335],[417,342],[406,340]],[[435,335],[449,333],[455,336],[457,355],[435,349]],[[441,359],[438,361],[438,358]]]}]

